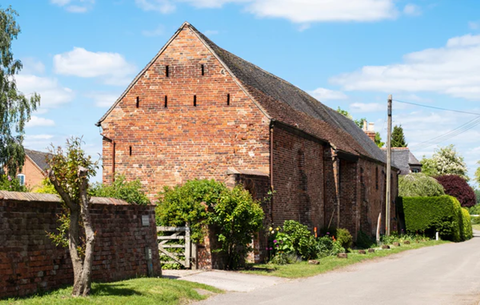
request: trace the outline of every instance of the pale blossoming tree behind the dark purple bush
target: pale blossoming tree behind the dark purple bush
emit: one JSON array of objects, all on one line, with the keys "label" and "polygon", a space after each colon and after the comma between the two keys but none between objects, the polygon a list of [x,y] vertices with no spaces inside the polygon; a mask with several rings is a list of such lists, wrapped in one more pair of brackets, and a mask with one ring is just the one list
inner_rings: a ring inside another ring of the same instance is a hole
[{"label": "pale blossoming tree behind the dark purple bush", "polygon": [[426,175],[458,175],[466,181],[469,180],[467,165],[453,144],[435,149],[431,158],[424,156],[420,163],[422,164],[422,173]]}]

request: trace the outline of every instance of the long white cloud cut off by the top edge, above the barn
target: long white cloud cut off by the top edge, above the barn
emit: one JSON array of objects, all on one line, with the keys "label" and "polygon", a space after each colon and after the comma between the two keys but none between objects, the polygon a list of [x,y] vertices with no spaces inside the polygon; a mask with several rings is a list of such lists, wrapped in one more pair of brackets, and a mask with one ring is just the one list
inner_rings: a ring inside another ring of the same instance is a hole
[{"label": "long white cloud cut off by the top edge, above the barn", "polygon": [[198,8],[243,3],[248,12],[258,17],[284,18],[295,23],[378,21],[398,15],[394,0],[135,0],[141,9],[162,14],[173,12],[176,4],[182,2]]}]

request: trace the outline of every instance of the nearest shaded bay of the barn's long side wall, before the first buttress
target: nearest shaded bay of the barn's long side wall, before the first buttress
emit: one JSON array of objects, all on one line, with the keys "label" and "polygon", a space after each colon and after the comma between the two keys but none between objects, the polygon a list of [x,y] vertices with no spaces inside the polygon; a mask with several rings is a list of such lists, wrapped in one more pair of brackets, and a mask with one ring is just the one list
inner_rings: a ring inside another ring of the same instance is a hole
[{"label": "nearest shaded bay of the barn's long side wall, before the first buttress", "polygon": [[322,227],[324,146],[280,127],[273,131],[273,222],[288,219]]}]

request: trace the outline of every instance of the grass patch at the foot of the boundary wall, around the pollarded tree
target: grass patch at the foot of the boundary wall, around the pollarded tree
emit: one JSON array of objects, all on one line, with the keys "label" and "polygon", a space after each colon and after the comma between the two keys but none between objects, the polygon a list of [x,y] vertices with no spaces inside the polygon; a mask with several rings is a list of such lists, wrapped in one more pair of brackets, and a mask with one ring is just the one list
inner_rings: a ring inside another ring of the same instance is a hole
[{"label": "grass patch at the foot of the boundary wall, around the pollarded tree", "polygon": [[[221,290],[198,283],[166,278],[138,278],[113,283],[93,283],[92,295],[72,298],[72,287],[29,298],[0,300],[6,304],[185,304],[206,299]],[[200,292],[200,293],[199,293]],[[206,293],[206,295],[202,295]]]}]

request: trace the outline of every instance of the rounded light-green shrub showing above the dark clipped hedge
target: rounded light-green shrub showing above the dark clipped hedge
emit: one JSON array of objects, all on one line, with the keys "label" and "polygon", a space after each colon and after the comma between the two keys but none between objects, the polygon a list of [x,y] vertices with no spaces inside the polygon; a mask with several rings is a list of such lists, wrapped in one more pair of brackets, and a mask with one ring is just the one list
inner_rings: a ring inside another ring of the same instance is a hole
[{"label": "rounded light-green shrub showing above the dark clipped hedge", "polygon": [[412,173],[398,178],[398,195],[401,197],[429,197],[445,195],[443,186],[434,178],[422,173]]}]

